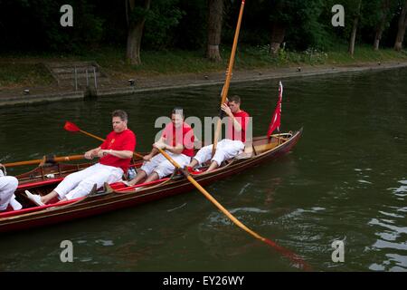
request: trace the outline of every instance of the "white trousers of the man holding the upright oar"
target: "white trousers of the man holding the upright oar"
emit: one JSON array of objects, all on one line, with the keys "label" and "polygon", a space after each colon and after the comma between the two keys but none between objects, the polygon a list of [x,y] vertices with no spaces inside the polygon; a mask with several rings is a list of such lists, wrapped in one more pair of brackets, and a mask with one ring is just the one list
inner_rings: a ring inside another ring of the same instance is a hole
[{"label": "white trousers of the man holding the upright oar", "polygon": [[[213,144],[201,148],[194,159],[203,164],[207,160],[211,160]],[[218,142],[216,152],[211,161],[216,161],[218,166],[221,166],[223,160],[229,160],[244,150],[244,143],[240,140],[223,139]]]}]

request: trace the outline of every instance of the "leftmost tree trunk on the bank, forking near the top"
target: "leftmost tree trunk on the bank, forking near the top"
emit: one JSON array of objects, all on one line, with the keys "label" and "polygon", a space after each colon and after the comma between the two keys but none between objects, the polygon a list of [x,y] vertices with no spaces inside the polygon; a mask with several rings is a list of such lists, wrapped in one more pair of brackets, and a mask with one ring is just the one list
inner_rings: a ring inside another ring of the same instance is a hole
[{"label": "leftmost tree trunk on the bank, forking near the top", "polygon": [[[128,1],[126,5],[126,10],[128,13],[135,9],[136,4],[135,0],[126,0]],[[144,1],[144,9],[148,11],[150,9],[151,0]],[[131,19],[128,17],[127,19]],[[146,16],[137,19],[137,21],[128,21],[128,43],[126,49],[126,62],[129,64],[140,64],[140,47],[141,47],[141,38],[143,36],[144,24],[146,22]]]}]

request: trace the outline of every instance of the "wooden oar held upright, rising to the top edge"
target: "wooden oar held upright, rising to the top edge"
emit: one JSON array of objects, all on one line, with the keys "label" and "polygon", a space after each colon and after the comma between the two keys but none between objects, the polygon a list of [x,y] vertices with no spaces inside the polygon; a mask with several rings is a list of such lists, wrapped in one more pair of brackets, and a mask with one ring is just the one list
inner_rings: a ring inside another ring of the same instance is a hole
[{"label": "wooden oar held upright, rising to the top edge", "polygon": [[[239,33],[241,31],[241,17],[243,16],[244,1],[245,0],[241,0],[241,11],[239,13],[238,23],[236,25],[236,31],[234,33],[231,59],[229,60],[229,67],[228,67],[228,71],[227,71],[227,75],[226,75],[226,81],[224,82],[223,89],[222,89],[221,107],[222,107],[222,104],[224,102],[226,102],[226,98],[227,98],[228,92],[229,92],[229,85],[231,84],[234,55],[236,54],[237,42],[239,39]],[[215,135],[214,135],[214,139],[213,139],[212,156],[216,152],[216,146],[218,144],[219,135],[221,134],[221,129],[222,129],[221,125],[222,125],[222,121],[221,121],[221,119],[219,119],[218,122],[216,123],[216,131],[215,131]]]}]

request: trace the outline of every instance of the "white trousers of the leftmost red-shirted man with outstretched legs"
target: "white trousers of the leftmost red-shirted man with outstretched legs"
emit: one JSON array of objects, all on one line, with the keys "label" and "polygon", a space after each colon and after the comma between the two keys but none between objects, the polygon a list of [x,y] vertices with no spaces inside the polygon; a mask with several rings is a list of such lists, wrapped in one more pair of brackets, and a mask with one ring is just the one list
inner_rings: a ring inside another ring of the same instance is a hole
[{"label": "white trousers of the leftmost red-shirted man with outstretched legs", "polygon": [[95,184],[99,189],[105,182],[118,182],[122,176],[122,169],[96,163],[87,169],[68,175],[54,190],[60,199],[81,198],[87,196]]}]

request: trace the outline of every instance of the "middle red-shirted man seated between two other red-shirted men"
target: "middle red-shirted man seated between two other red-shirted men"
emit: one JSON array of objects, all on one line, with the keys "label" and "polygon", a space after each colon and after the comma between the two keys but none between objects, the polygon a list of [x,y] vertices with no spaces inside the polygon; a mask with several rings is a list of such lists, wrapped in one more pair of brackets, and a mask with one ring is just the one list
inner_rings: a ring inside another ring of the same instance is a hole
[{"label": "middle red-shirted man seated between two other red-shirted men", "polygon": [[[143,179],[145,182],[163,179],[174,172],[175,167],[166,160],[157,148],[166,150],[169,156],[180,166],[184,167],[194,156],[194,131],[184,122],[184,112],[175,108],[171,114],[171,122],[166,124],[161,138],[153,144],[153,150],[144,157],[143,166],[137,171],[135,179],[127,184],[133,186]],[[156,155],[157,154],[157,155]]]}]

